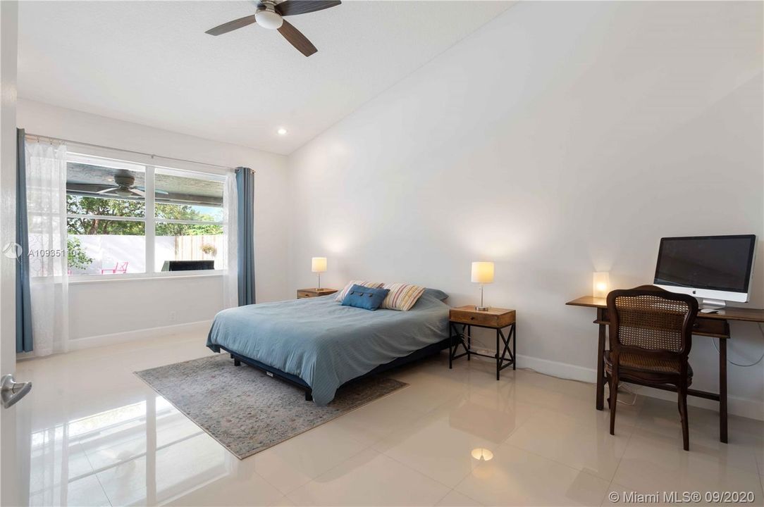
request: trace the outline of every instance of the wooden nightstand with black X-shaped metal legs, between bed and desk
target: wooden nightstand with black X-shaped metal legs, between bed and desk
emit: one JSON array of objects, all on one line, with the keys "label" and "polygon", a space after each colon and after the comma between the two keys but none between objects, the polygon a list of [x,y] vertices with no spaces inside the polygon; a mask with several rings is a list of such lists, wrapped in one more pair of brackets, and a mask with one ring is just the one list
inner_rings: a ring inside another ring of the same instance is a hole
[{"label": "wooden nightstand with black X-shaped metal legs, between bed and desk", "polygon": [[[461,327],[461,330],[459,329]],[[496,330],[496,354],[490,356],[472,350],[472,328]],[[504,329],[509,328],[507,334]],[[451,308],[448,312],[448,368],[459,357],[471,356],[489,357],[496,360],[496,379],[501,370],[507,367],[515,369],[515,311],[507,308],[488,308],[476,310],[473,305]],[[459,346],[465,349],[456,354]],[[510,347],[512,350],[510,350]],[[507,357],[509,354],[509,357]]]}]

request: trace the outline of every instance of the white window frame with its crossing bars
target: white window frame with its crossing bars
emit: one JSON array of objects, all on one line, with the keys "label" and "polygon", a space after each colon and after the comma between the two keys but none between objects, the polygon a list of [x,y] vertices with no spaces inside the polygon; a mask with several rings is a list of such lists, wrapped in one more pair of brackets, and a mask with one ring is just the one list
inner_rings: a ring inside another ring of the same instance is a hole
[{"label": "white window frame with its crossing bars", "polygon": [[[72,156],[72,157],[70,157]],[[109,157],[108,155],[102,155],[102,154],[91,154],[86,153],[86,151],[83,150],[73,150],[66,153],[66,165],[67,165],[67,171],[68,171],[68,165],[70,162],[72,162],[72,159],[76,159],[79,157],[82,158],[88,158],[92,159],[94,162],[97,159],[104,159],[107,161],[112,161],[115,163],[129,163],[134,166],[143,166],[145,171],[145,197],[144,197],[144,216],[143,217],[121,217],[121,216],[113,216],[113,215],[79,215],[75,213],[66,213],[66,234],[67,237],[69,235],[69,225],[68,225],[68,219],[69,218],[85,218],[85,219],[93,219],[93,218],[99,218],[102,220],[112,220],[112,221],[138,221],[143,222],[144,224],[144,238],[145,238],[145,248],[144,248],[144,262],[145,262],[145,271],[143,273],[108,273],[108,274],[101,274],[101,273],[95,273],[91,275],[69,275],[69,283],[91,283],[91,282],[105,282],[105,281],[114,281],[114,280],[138,280],[138,279],[177,279],[177,278],[189,278],[189,277],[199,277],[199,276],[223,276],[225,274],[225,268],[221,270],[189,270],[189,271],[157,271],[154,263],[154,255],[156,252],[156,238],[157,238],[157,223],[163,223],[163,224],[202,224],[202,225],[220,225],[223,228],[224,234],[225,230],[227,229],[227,221],[224,219],[222,221],[206,221],[206,220],[180,220],[175,218],[157,218],[156,216],[156,192],[154,190],[156,189],[156,179],[155,174],[156,170],[170,170],[177,173],[182,173],[184,176],[187,175],[189,178],[195,178],[195,179],[206,179],[209,181],[217,181],[223,183],[223,192],[225,192],[225,174],[219,173],[218,171],[215,172],[206,172],[206,171],[199,171],[199,170],[189,170],[189,169],[181,169],[178,167],[168,167],[168,166],[160,166],[157,164],[150,164],[145,162],[138,162],[133,160],[124,160],[121,158],[116,157]],[[70,195],[69,192],[66,192],[66,195]],[[224,210],[224,217],[225,217],[225,210]]]}]

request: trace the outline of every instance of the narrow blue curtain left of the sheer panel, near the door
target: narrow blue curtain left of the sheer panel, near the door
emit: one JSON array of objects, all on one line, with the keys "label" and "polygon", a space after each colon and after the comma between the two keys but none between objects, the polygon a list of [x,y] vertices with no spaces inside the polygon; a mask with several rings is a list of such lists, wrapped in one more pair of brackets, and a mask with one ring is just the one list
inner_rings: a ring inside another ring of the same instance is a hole
[{"label": "narrow blue curtain left of the sheer panel, near the door", "polygon": [[27,222],[27,163],[24,129],[16,131],[16,352],[32,350],[32,305],[29,297],[29,231]]}]

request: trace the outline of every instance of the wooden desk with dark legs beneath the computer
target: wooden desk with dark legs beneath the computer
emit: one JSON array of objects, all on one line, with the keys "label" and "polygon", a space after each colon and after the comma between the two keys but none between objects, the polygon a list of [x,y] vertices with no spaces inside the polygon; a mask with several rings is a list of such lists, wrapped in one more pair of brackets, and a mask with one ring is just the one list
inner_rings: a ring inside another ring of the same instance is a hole
[{"label": "wooden desk with dark legs beneath the computer", "polygon": [[[598,325],[600,329],[597,344],[597,410],[602,410],[605,393],[605,371],[602,357],[605,352],[606,328],[610,324],[607,315],[607,299],[584,295],[565,304],[597,308],[597,319],[594,320],[594,324]],[[688,389],[687,391],[690,396],[713,399],[719,402],[719,440],[725,444],[727,443],[727,340],[730,339],[730,321],[764,322],[764,309],[727,307],[719,310],[718,313],[698,312],[692,334],[707,336],[712,339],[719,338],[719,392],[698,391],[697,389]],[[657,389],[676,392],[673,386]]]}]

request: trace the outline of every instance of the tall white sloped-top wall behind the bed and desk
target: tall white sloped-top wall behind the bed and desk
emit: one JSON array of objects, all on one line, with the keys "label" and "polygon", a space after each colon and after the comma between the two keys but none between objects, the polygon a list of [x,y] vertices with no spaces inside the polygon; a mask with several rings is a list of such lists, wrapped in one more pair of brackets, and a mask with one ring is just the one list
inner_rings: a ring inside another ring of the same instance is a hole
[{"label": "tall white sloped-top wall behind the bed and desk", "polygon": [[[289,158],[290,286],[407,281],[518,310],[526,366],[594,378],[594,312],[565,302],[652,282],[659,238],[764,239],[762,4],[523,2]],[[764,306],[759,248],[752,305]],[[764,350],[732,328],[730,359]],[[534,359],[535,358],[535,359]],[[717,389],[694,340],[694,387]],[[554,363],[557,362],[557,363]],[[764,364],[730,366],[730,407],[762,418]]]}]

